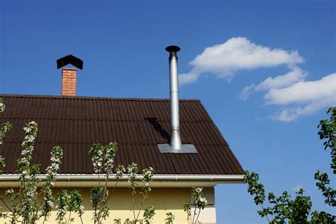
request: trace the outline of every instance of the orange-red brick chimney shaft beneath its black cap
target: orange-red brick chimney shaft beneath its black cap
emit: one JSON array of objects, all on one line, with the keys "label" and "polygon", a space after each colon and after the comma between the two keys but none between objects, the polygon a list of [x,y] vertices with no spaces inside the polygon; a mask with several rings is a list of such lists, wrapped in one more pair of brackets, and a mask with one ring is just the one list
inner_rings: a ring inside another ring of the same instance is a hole
[{"label": "orange-red brick chimney shaft beneath its black cap", "polygon": [[77,69],[62,69],[62,96],[76,96]]}]

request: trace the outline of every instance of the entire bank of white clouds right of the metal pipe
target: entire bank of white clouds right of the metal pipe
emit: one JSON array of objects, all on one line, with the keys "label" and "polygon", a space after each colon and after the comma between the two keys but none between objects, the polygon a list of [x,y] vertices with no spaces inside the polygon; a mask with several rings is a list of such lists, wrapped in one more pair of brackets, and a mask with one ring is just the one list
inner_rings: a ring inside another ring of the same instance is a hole
[{"label": "entire bank of white clouds right of the metal pipe", "polygon": [[203,74],[230,80],[242,69],[286,65],[289,72],[246,86],[242,89],[240,98],[247,99],[256,91],[265,91],[265,105],[281,106],[270,118],[288,122],[336,105],[336,73],[320,80],[306,81],[308,72],[298,67],[301,62],[304,62],[303,57],[297,51],[257,45],[247,38],[231,38],[223,44],[206,47],[189,62],[191,71],[180,74],[179,80],[180,84],[189,84],[196,82]]}]

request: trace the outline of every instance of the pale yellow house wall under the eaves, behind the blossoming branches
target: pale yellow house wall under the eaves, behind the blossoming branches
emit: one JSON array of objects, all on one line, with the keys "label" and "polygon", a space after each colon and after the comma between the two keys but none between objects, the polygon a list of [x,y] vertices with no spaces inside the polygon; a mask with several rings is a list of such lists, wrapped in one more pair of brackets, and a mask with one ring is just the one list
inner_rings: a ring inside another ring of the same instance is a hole
[{"label": "pale yellow house wall under the eaves, behind the blossoming branches", "polygon": [[[82,217],[84,223],[93,223],[91,218],[93,215],[93,211],[91,208],[91,201],[90,201],[90,189],[88,188],[76,188],[79,189],[81,192],[83,198],[84,198],[84,215]],[[6,196],[4,194],[4,191],[6,189],[0,189],[0,196],[2,196],[7,203],[9,203],[8,200],[6,200]],[[72,190],[72,189],[68,189]],[[59,192],[60,189],[55,189],[54,194],[56,195],[57,192]],[[140,189],[138,190],[138,192]],[[111,192],[111,189],[110,189]],[[156,188],[152,189],[152,192],[150,192],[150,195],[147,199],[147,202],[142,206],[142,210],[146,208],[147,206],[155,206],[155,218],[154,223],[164,223],[164,219],[166,218],[167,212],[172,212],[176,219],[174,223],[187,223],[186,221],[186,213],[184,212],[183,205],[186,200],[189,200],[190,198],[190,192],[191,190],[189,188]],[[138,195],[136,200],[138,201],[138,205],[135,206],[136,211],[140,208],[140,196]],[[6,210],[6,207],[3,203],[0,203],[2,207],[2,211],[8,212]],[[133,211],[132,211],[132,199],[130,194],[130,189],[116,189],[114,191],[113,195],[111,196],[111,199],[108,203],[108,206],[110,208],[110,216],[107,220],[105,220],[103,223],[113,223],[113,219],[115,218],[121,218],[122,220],[125,220],[126,218],[133,218]],[[206,211],[205,211],[206,212]],[[77,218],[77,215],[72,215],[72,217],[75,218],[74,223],[80,223],[79,218]],[[142,218],[142,213],[140,213],[140,218]],[[56,211],[52,211],[52,215],[49,218],[48,223],[57,223],[55,221],[56,218]],[[1,220],[2,223],[4,220]],[[42,221],[40,221],[42,223]]]}]

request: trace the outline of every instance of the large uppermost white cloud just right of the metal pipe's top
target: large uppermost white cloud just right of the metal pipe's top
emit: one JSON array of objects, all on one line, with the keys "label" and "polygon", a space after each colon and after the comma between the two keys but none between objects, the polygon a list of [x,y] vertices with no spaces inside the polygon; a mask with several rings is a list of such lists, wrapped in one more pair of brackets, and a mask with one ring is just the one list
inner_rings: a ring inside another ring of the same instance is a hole
[{"label": "large uppermost white cloud just right of the metal pipe's top", "polygon": [[189,62],[191,72],[180,74],[181,84],[196,82],[202,74],[214,74],[217,78],[229,79],[241,69],[257,69],[276,67],[279,65],[294,65],[304,62],[297,51],[271,49],[250,42],[247,38],[231,38],[220,45],[206,47]]}]

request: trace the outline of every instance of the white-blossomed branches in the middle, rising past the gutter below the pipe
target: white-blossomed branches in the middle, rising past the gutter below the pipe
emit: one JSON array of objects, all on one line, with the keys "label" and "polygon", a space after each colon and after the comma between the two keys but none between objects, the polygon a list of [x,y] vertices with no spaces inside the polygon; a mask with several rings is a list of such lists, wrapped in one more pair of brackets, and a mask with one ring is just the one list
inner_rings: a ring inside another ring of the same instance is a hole
[{"label": "white-blossomed branches in the middle, rising past the gutter below the pipe", "polygon": [[[92,208],[94,208],[94,223],[102,223],[103,220],[108,218],[109,211],[108,211],[108,199],[111,195],[107,189],[107,183],[109,177],[113,174],[113,162],[114,157],[116,156],[117,150],[117,143],[111,142],[108,145],[102,144],[94,144],[92,145],[91,149],[89,150],[89,154],[92,155],[92,164],[94,167],[94,173],[99,175],[99,186],[96,186],[91,189],[91,203]],[[144,220],[139,220],[140,211],[142,208],[143,203],[147,200],[148,194],[152,190],[150,188],[150,182],[152,181],[153,176],[153,169],[152,167],[148,167],[142,170],[142,191],[140,195],[142,196],[142,201],[140,204],[140,209],[138,211],[138,215],[135,215],[135,194],[136,194],[136,187],[138,183],[136,182],[136,177],[138,174],[138,165],[135,163],[128,165],[128,183],[130,184],[130,189],[132,190],[132,206],[133,206],[133,216],[134,220],[130,221],[130,223],[137,223],[140,222],[147,222],[150,223],[153,216],[155,215],[155,208],[150,206],[145,210],[144,213]],[[116,167],[116,185],[113,188],[115,191],[118,181],[123,177],[125,173],[125,167],[123,165],[118,165]],[[101,186],[101,174],[105,175],[105,182],[103,186]],[[112,191],[112,193],[113,193]],[[113,220],[114,223],[121,223],[121,220],[116,218]],[[128,220],[125,220],[125,223],[128,223]]]}]

